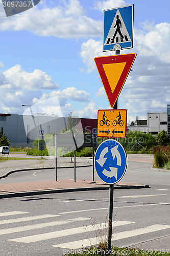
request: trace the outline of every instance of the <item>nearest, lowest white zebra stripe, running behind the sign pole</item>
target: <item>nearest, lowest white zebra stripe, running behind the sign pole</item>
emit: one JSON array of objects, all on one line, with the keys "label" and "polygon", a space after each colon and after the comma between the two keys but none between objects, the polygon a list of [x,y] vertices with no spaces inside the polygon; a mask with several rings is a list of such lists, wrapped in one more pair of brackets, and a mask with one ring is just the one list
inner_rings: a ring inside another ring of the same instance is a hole
[{"label": "nearest, lowest white zebra stripe, running behind the sign pole", "polygon": [[[134,229],[130,231],[125,231],[125,232],[119,232],[119,233],[114,233],[112,237],[112,241],[120,240],[120,239],[125,239],[129,237],[135,237],[139,236],[141,234],[146,234],[146,233],[151,233],[163,229],[170,228],[169,225],[153,225],[153,226],[148,226],[145,228],[139,228],[139,229]],[[107,239],[106,236],[103,236],[102,238]],[[97,238],[89,238],[89,239],[84,239],[84,240],[79,240],[75,242],[69,242],[69,243],[64,243],[64,244],[57,244],[57,245],[52,245],[53,247],[59,247],[59,248],[66,248],[66,249],[78,249],[82,247],[87,247],[91,245],[96,245],[99,244],[101,241],[101,237]]]}]

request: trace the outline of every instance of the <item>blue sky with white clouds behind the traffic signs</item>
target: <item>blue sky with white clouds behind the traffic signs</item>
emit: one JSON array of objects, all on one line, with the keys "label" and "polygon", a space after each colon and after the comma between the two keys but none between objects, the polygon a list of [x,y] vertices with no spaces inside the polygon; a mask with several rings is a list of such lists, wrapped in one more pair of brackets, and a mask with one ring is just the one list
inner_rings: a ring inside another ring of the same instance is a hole
[{"label": "blue sky with white clouds behind the traffic signs", "polygon": [[22,114],[21,104],[54,96],[64,115],[96,118],[98,109],[108,109],[94,63],[94,57],[114,55],[103,52],[103,11],[131,4],[134,47],[120,54],[137,57],[119,109],[128,109],[128,122],[146,119],[147,112],[165,112],[170,103],[169,0],[41,0],[11,17],[0,3],[0,113]]}]

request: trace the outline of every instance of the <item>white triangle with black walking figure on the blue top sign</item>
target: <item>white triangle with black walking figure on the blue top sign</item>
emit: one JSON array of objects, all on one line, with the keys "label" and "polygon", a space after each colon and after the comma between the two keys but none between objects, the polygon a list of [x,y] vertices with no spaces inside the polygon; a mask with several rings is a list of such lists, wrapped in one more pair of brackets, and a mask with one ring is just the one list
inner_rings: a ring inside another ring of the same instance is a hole
[{"label": "white triangle with black walking figure on the blue top sign", "polygon": [[131,38],[123,18],[119,10],[117,10],[104,45],[118,44],[127,41],[131,41]]}]

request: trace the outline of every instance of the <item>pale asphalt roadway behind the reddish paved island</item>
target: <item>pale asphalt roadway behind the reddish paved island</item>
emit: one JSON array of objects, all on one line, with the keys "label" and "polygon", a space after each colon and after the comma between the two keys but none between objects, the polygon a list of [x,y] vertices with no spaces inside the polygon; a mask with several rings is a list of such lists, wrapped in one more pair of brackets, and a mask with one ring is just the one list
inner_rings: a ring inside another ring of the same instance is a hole
[{"label": "pale asphalt roadway behind the reddish paved island", "polygon": [[[153,169],[153,156],[151,155],[128,155],[127,171],[121,182],[135,182],[139,184],[149,184],[152,186],[169,185],[170,171],[159,171]],[[95,174],[95,180],[100,180]],[[58,180],[74,179],[74,168],[58,168]],[[92,167],[76,168],[76,179],[92,180]],[[1,179],[1,183],[15,183],[25,181],[55,180],[55,169],[27,170],[9,175]]]}]

